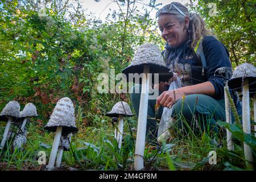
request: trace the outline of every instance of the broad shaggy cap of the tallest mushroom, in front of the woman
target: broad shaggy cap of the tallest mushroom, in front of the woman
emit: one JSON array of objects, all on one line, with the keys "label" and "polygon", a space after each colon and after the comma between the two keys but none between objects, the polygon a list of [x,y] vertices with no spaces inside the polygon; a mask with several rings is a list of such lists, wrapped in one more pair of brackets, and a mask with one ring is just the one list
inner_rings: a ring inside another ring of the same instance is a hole
[{"label": "broad shaggy cap of the tallest mushroom, in front of the woman", "polygon": [[[144,65],[150,65],[150,73],[159,74],[159,81],[168,81],[173,76],[173,73],[164,63],[160,50],[154,44],[139,46],[131,64],[123,69],[122,73],[125,73],[127,81],[131,81],[129,80],[129,73],[143,73]],[[152,82],[154,82],[154,75],[152,75]]]}]

